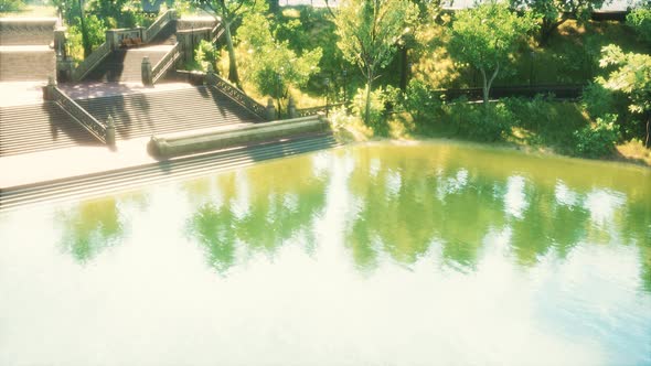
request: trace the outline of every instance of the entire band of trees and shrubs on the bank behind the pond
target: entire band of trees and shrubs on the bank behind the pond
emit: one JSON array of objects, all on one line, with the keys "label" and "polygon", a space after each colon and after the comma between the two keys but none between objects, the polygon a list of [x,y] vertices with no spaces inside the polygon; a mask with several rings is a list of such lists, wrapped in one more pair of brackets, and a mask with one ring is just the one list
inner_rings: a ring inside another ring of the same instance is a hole
[{"label": "entire band of trees and shrubs on the bank behind the pond", "polygon": [[[629,158],[651,164],[651,1],[626,21],[595,21],[602,0],[484,1],[446,10],[440,1],[348,0],[279,7],[256,0],[0,1],[0,12],[39,4],[68,26],[77,60],[110,28],[147,26],[161,11],[221,19],[217,44],[201,43],[188,69],[209,64],[282,114],[331,109],[355,138],[447,137],[536,151]],[[495,86],[579,85],[578,100],[491,96]],[[481,88],[480,100],[446,90]]]}]

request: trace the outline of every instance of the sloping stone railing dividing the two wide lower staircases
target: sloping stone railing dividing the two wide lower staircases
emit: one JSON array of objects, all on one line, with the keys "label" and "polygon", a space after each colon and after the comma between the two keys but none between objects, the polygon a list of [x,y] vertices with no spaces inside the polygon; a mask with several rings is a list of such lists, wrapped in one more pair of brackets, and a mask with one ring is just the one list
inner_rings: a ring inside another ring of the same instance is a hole
[{"label": "sloping stone railing dividing the two wide lower staircases", "polygon": [[45,86],[45,99],[56,101],[71,116],[75,118],[88,132],[106,144],[115,144],[115,126],[105,126],[95,117],[82,108],[76,101],[71,99],[65,93],[50,83]]}]

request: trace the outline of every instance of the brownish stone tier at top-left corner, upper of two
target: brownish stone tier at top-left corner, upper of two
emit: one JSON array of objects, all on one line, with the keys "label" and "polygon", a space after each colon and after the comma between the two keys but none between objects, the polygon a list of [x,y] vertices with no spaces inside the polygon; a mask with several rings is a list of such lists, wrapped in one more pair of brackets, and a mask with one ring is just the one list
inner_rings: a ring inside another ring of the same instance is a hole
[{"label": "brownish stone tier at top-left corner, upper of two", "polygon": [[0,18],[0,45],[49,45],[56,18]]}]

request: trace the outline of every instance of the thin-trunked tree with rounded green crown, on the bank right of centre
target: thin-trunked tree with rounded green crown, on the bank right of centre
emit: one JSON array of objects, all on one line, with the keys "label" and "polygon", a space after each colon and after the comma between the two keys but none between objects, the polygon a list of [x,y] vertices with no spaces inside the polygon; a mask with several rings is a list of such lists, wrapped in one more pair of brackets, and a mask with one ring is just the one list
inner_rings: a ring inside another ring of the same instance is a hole
[{"label": "thin-trunked tree with rounded green crown, on the bank right of centre", "polygon": [[487,3],[460,11],[452,23],[448,52],[457,61],[470,64],[483,79],[483,104],[488,110],[489,92],[519,42],[535,28],[535,20],[519,17],[502,3]]}]

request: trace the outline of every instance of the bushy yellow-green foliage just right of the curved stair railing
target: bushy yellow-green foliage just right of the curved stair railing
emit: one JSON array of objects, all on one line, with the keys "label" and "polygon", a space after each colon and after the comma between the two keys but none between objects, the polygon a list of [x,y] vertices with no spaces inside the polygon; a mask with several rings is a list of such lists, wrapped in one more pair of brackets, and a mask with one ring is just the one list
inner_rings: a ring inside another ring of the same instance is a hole
[{"label": "bushy yellow-green foliage just right of the curved stair railing", "polygon": [[300,56],[287,41],[274,40],[269,21],[259,13],[246,15],[237,30],[241,54],[247,78],[263,95],[285,99],[289,87],[305,87],[310,76],[319,73],[321,49],[305,51]]}]

